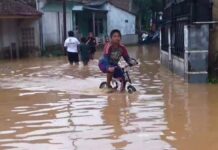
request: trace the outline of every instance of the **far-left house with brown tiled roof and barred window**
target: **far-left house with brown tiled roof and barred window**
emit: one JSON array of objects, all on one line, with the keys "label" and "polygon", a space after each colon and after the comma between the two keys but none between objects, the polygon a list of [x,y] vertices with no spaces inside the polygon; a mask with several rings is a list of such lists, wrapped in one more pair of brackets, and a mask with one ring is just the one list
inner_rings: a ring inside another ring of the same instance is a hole
[{"label": "far-left house with brown tiled roof and barred window", "polygon": [[37,20],[41,15],[23,1],[0,1],[0,58],[27,56],[39,50]]}]

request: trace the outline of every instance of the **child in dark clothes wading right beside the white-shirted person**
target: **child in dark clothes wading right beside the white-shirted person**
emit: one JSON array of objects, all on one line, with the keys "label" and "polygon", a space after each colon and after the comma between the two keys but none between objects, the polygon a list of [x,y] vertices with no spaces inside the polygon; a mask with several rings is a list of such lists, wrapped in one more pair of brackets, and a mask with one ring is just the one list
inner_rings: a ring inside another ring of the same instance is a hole
[{"label": "child in dark clothes wading right beside the white-shirted person", "polygon": [[84,66],[88,65],[89,59],[90,59],[90,51],[89,51],[89,46],[86,45],[86,38],[85,37],[81,38],[80,56],[81,56],[81,60],[83,62],[83,65]]}]

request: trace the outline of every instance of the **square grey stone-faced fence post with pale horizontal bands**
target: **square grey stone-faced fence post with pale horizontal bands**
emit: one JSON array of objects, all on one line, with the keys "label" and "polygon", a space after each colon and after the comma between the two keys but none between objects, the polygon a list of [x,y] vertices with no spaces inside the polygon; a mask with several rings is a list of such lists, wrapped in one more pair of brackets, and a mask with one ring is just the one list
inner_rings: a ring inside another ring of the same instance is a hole
[{"label": "square grey stone-faced fence post with pale horizontal bands", "polygon": [[209,25],[185,25],[185,79],[189,83],[208,82]]}]

